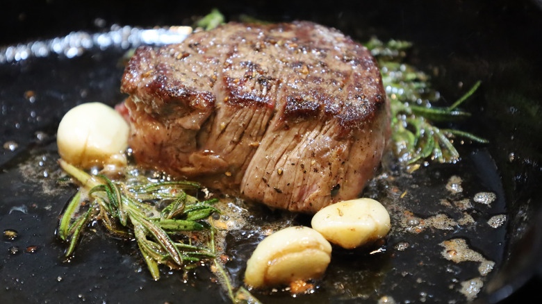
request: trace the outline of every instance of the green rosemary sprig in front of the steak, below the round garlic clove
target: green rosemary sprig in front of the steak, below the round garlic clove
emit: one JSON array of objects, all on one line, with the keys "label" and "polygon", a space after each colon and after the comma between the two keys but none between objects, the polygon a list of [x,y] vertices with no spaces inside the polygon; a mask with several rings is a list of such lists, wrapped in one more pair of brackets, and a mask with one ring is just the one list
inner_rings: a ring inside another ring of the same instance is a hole
[{"label": "green rosemary sprig in front of the steak, below the round garlic clove", "polygon": [[[210,226],[203,220],[219,212],[211,206],[216,200],[199,202],[184,191],[196,189],[197,184],[164,182],[129,186],[114,183],[106,176],[90,176],[63,160],[59,163],[83,185],[67,205],[58,227],[58,236],[69,242],[67,257],[74,253],[84,228],[95,219],[104,223],[110,233],[136,238],[155,280],[160,278],[158,264],[185,269],[195,262],[215,257],[204,246],[174,240],[176,235],[187,231],[208,230]],[[164,195],[166,193],[168,195]],[[175,199],[163,210],[158,210],[164,201],[162,197],[169,199],[172,194]],[[156,203],[145,203],[140,197],[153,197]]]}]

